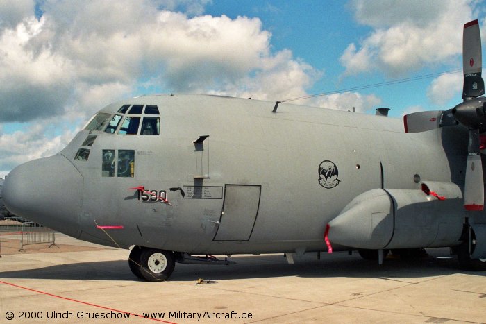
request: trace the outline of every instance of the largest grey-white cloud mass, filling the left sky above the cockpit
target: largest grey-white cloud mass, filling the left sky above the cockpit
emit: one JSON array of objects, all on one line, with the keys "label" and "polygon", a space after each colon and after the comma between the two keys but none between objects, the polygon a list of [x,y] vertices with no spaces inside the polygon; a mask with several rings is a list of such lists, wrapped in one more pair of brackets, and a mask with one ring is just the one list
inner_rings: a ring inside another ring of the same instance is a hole
[{"label": "largest grey-white cloud mass, filling the left sky above the cockpit", "polygon": [[60,151],[75,126],[143,85],[276,100],[305,95],[321,76],[291,51],[271,51],[260,19],[201,15],[209,2],[1,6],[0,123],[30,123],[0,133],[0,170]]}]

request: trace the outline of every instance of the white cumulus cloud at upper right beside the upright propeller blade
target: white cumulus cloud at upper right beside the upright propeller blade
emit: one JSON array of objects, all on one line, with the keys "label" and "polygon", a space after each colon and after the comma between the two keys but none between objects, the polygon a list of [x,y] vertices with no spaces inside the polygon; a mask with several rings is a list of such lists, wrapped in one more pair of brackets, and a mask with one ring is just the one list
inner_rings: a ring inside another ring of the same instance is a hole
[{"label": "white cumulus cloud at upper right beside the upright propeller blade", "polygon": [[352,1],[358,22],[373,31],[342,54],[344,76],[379,69],[396,77],[457,60],[462,25],[471,20],[473,7],[467,0]]}]

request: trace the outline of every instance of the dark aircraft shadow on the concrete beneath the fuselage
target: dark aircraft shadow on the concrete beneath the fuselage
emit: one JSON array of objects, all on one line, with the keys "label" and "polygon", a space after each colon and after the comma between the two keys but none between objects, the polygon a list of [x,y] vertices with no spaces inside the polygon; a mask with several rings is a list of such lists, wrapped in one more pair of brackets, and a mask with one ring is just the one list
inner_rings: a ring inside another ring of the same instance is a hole
[{"label": "dark aircraft shadow on the concrete beneath the fuselage", "polygon": [[[337,253],[336,253],[337,254]],[[385,259],[383,265],[376,261],[361,259],[358,255],[323,257],[321,260],[305,257],[296,264],[287,264],[282,255],[235,256],[237,262],[231,266],[176,264],[172,281],[235,280],[253,278],[279,278],[296,276],[302,278],[428,278],[437,275],[467,273],[486,276],[486,272],[464,272],[458,268],[456,259]],[[44,268],[5,271],[0,278],[58,279],[58,280],[126,280],[138,281],[128,268],[126,260],[81,262]]]}]

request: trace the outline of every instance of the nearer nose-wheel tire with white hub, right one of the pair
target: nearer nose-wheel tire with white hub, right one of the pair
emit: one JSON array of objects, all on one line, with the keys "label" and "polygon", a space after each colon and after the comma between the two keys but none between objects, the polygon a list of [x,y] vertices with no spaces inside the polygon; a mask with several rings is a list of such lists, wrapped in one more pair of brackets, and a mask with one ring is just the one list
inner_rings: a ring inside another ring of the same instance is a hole
[{"label": "nearer nose-wheel tire with white hub, right one of the pair", "polygon": [[140,275],[146,281],[165,281],[174,271],[174,253],[156,248],[144,248],[140,253]]}]

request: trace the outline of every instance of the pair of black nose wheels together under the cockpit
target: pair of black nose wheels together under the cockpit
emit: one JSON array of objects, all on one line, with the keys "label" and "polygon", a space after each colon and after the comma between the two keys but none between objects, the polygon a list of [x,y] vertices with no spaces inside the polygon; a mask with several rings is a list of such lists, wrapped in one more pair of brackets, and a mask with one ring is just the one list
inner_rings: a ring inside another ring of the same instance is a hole
[{"label": "pair of black nose wheels together under the cockpit", "polygon": [[132,273],[146,281],[167,280],[175,265],[174,253],[156,248],[135,246],[128,259]]}]

